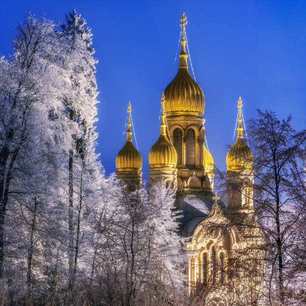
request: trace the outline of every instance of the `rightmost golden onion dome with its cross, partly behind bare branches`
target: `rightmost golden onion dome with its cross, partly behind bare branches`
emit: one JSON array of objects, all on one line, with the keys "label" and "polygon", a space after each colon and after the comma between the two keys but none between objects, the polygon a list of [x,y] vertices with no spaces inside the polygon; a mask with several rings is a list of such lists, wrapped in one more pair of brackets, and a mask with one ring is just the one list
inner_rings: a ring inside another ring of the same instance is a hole
[{"label": "rightmost golden onion dome with its cross, partly behind bare branches", "polygon": [[229,148],[226,154],[226,165],[227,170],[231,171],[241,171],[241,170],[251,170],[253,166],[253,153],[251,149],[245,143],[242,135],[242,125],[241,125],[241,107],[242,100],[239,96],[238,100],[238,127],[237,127],[237,139],[235,143]]}]

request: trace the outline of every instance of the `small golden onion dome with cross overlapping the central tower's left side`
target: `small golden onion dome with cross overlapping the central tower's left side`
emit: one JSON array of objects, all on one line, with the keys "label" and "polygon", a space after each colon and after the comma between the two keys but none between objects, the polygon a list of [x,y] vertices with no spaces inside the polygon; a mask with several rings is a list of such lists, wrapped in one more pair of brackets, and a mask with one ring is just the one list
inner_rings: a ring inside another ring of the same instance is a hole
[{"label": "small golden onion dome with cross overlapping the central tower's left side", "polygon": [[176,169],[177,153],[173,144],[166,136],[163,93],[161,97],[161,108],[160,135],[149,151],[148,161],[150,169]]}]

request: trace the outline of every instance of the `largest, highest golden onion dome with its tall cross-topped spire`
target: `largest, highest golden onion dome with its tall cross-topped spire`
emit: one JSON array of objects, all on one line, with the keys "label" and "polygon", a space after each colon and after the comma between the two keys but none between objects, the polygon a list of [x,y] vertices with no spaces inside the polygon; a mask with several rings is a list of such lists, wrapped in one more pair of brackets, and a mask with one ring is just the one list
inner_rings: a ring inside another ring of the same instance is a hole
[{"label": "largest, highest golden onion dome with its tall cross-topped spire", "polygon": [[181,51],[179,54],[178,71],[174,79],[164,89],[166,114],[187,113],[203,115],[205,98],[201,87],[195,82],[188,71],[187,53],[185,49],[185,24],[184,12],[180,18],[182,27],[182,38],[180,40]]}]

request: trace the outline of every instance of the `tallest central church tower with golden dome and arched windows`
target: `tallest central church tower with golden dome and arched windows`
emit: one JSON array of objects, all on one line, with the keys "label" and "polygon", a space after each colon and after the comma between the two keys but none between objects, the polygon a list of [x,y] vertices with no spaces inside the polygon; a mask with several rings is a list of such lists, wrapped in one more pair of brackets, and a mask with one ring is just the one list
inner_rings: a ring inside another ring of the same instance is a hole
[{"label": "tallest central church tower with golden dome and arched windows", "polygon": [[177,153],[177,186],[183,192],[213,191],[213,159],[204,145],[205,98],[188,71],[186,23],[183,12],[178,71],[164,89],[166,124]]}]

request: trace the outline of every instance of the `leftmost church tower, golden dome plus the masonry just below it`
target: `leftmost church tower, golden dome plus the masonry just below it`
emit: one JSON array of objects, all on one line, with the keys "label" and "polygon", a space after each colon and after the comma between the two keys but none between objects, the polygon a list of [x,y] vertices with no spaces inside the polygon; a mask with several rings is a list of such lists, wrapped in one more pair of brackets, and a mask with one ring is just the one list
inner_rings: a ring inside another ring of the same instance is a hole
[{"label": "leftmost church tower, golden dome plus the masonry just below it", "polygon": [[142,158],[140,153],[132,144],[131,130],[130,130],[130,112],[131,106],[128,102],[127,113],[127,130],[126,130],[126,141],[124,146],[120,149],[116,156],[116,176],[118,180],[126,183],[130,188],[141,188],[142,182]]}]

